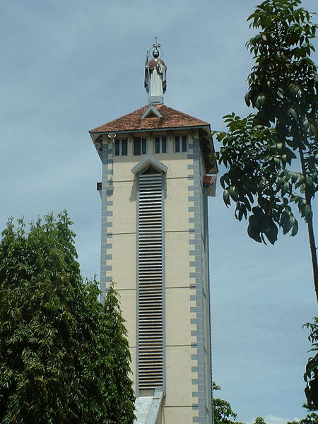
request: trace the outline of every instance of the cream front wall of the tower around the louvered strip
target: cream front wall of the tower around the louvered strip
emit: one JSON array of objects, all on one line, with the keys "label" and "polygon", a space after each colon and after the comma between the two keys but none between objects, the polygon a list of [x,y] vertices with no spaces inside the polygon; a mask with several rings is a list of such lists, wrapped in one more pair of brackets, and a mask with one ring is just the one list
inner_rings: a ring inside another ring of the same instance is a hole
[{"label": "cream front wall of the tower around the louvered strip", "polygon": [[[182,134],[182,131],[177,132]],[[160,135],[155,133],[154,136]],[[189,229],[194,224],[189,218],[188,197],[191,195],[189,186],[193,185],[193,171],[188,165],[193,163],[188,159],[188,153],[173,153],[173,133],[168,135],[168,152],[161,155],[153,154],[153,137],[148,141],[148,154],[153,155],[164,165],[167,165],[165,178],[165,367],[166,367],[166,396],[163,408],[164,424],[190,424],[197,411],[192,409],[197,399],[193,392],[198,386],[192,379],[196,375],[192,367],[197,360],[192,359],[196,352],[192,344],[196,342],[192,331],[195,330],[191,319],[195,314],[190,312],[195,304],[190,300],[194,291],[190,284],[194,278],[189,277],[194,272],[189,262],[189,240],[192,235]],[[197,136],[195,131],[194,137]],[[137,134],[147,136],[147,134]],[[124,137],[123,137],[124,138]],[[121,305],[126,328],[129,332],[132,369],[136,367],[136,177],[131,172],[143,155],[133,156],[133,137],[128,138],[128,155],[114,157],[112,187],[110,199],[112,206],[112,259],[107,264],[112,266],[112,278],[115,288],[121,296]],[[191,140],[189,140],[191,142]],[[109,177],[110,178],[110,177]],[[103,182],[105,184],[105,182]],[[208,360],[208,358],[206,359]]]}]

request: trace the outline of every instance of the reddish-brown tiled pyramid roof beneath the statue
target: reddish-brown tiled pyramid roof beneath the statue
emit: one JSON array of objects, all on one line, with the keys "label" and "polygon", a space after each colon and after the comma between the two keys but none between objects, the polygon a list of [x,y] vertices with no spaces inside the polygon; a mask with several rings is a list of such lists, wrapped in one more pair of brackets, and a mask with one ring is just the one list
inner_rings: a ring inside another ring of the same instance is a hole
[{"label": "reddish-brown tiled pyramid roof beneath the statue", "polygon": [[207,126],[208,122],[196,119],[186,113],[179,112],[165,105],[153,105],[162,117],[149,113],[141,119],[149,105],[143,106],[123,117],[107,122],[107,124],[92,129],[90,133],[112,132],[112,131],[140,131],[148,129],[180,128],[184,126]]}]

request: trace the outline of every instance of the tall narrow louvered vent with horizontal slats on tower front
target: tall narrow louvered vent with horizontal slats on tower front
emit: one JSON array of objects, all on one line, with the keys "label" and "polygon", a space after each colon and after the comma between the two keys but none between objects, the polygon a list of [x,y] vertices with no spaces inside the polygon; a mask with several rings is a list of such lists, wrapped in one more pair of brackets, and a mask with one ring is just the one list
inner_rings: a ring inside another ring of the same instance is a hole
[{"label": "tall narrow louvered vent with horizontal slats on tower front", "polygon": [[163,386],[163,175],[153,168],[149,170],[138,177],[138,382],[141,390]]}]

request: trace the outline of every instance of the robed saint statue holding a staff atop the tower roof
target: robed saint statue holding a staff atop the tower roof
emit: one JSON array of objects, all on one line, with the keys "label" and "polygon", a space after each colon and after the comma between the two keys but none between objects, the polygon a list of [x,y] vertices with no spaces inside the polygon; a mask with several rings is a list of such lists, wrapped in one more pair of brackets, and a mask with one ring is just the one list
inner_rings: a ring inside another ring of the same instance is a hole
[{"label": "robed saint statue holding a staff atop the tower roof", "polygon": [[153,50],[153,59],[149,59],[149,52],[147,52],[145,64],[145,88],[147,93],[149,93],[150,100],[153,98],[158,100],[157,102],[163,102],[163,93],[165,93],[167,88],[166,71],[167,66],[165,66],[164,61],[159,58],[158,50]]}]

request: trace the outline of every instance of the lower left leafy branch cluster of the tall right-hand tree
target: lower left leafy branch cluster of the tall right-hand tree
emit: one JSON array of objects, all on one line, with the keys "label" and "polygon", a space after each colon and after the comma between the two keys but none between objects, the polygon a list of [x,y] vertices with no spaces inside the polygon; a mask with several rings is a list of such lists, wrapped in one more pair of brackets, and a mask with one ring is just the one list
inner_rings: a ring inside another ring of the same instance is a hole
[{"label": "lower left leafy branch cluster of the tall right-hand tree", "polygon": [[[218,134],[218,140],[225,146],[220,151],[220,163],[230,167],[220,177],[225,204],[229,206],[231,199],[235,201],[238,220],[249,215],[247,231],[257,242],[266,243],[266,237],[274,244],[278,225],[284,234],[291,230],[295,235],[298,221],[288,195],[304,183],[300,172],[283,170],[295,154],[281,143],[274,129],[255,125],[254,115],[240,119],[232,114],[225,117],[225,122],[230,134]],[[277,154],[278,148],[284,151],[283,155]],[[300,207],[304,203],[305,200],[299,200]]]}]

